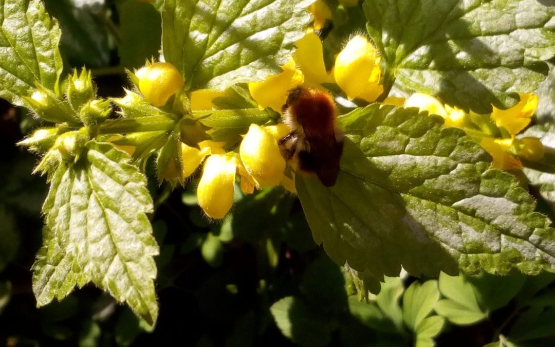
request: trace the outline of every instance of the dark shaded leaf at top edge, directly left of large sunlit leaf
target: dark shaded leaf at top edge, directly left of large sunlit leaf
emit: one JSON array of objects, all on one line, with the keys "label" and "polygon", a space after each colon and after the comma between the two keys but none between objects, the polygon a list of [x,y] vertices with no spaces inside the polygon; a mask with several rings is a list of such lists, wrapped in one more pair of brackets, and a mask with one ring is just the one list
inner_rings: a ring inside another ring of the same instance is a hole
[{"label": "dark shaded leaf at top edge, directly left of large sunlit leaf", "polygon": [[152,4],[126,0],[118,6],[120,16],[118,53],[120,64],[138,68],[147,59],[158,57],[162,19]]}]

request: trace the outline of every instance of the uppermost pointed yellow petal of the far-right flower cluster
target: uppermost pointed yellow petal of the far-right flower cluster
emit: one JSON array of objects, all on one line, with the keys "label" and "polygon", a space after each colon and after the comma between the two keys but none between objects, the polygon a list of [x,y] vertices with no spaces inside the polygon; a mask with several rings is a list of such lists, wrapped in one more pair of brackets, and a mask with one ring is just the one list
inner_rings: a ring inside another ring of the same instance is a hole
[{"label": "uppermost pointed yellow petal of the far-right flower cluster", "polygon": [[521,99],[516,105],[506,110],[501,110],[494,106],[491,114],[497,127],[505,128],[511,135],[518,134],[530,124],[532,115],[538,107],[538,97],[536,95],[519,95]]}]

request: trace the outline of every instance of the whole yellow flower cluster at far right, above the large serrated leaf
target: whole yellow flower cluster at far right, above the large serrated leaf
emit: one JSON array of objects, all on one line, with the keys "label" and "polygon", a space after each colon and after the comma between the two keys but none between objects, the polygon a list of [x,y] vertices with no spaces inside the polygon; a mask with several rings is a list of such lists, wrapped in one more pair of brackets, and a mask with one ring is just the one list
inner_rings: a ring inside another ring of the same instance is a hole
[{"label": "whole yellow flower cluster at far right, above the large serrated leaf", "polygon": [[405,107],[418,107],[441,115],[447,127],[465,129],[491,154],[492,167],[503,170],[522,169],[519,158],[535,162],[543,157],[544,148],[539,139],[516,137],[530,124],[537,105],[536,95],[520,94],[520,101],[513,107],[502,110],[494,106],[491,115],[480,115],[467,114],[422,93],[412,94],[405,102]]}]

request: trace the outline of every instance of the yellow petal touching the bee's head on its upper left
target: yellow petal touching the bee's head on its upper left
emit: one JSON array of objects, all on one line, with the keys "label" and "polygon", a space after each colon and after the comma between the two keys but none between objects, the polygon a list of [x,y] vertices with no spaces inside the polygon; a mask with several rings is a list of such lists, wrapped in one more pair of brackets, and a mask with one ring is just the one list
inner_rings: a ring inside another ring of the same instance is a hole
[{"label": "yellow petal touching the bee's head on its upper left", "polygon": [[304,81],[302,72],[296,68],[293,58],[281,67],[283,72],[267,77],[262,82],[249,83],[249,92],[258,103],[260,109],[271,107],[281,112],[281,106],[287,100],[287,92],[300,86]]}]

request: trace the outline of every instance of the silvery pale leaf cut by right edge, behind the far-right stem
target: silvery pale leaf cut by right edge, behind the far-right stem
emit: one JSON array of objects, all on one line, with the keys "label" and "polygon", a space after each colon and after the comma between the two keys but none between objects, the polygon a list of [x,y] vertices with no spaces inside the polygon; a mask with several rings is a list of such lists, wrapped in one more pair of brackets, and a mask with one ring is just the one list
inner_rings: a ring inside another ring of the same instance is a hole
[{"label": "silvery pale leaf cut by right edge, behind the far-right stem", "polygon": [[[553,110],[552,110],[553,111]],[[555,150],[555,121],[549,123],[534,125],[524,132],[523,136],[539,138],[546,148]],[[553,155],[553,154],[551,154]],[[551,160],[548,164],[555,165]],[[542,172],[536,169],[524,168],[526,177],[530,183],[539,188],[539,193],[549,202],[555,203],[555,173]]]}]

